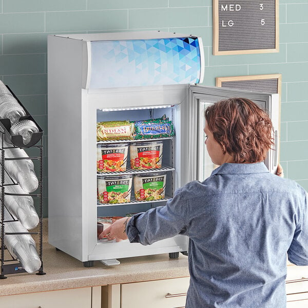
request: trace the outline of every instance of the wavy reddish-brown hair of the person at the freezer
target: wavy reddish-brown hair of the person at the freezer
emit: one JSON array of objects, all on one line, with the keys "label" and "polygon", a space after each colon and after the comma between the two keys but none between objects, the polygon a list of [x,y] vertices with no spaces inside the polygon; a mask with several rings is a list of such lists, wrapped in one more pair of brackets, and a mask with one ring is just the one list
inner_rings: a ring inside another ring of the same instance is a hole
[{"label": "wavy reddish-brown hair of the person at the freezer", "polygon": [[272,121],[254,102],[244,98],[222,100],[205,111],[208,129],[235,163],[256,163],[271,148]]}]

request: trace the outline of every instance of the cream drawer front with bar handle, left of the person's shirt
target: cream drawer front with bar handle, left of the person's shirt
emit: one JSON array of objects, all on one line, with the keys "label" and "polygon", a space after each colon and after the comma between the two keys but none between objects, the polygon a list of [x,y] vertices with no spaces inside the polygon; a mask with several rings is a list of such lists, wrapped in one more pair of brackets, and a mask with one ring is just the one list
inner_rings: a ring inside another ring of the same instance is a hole
[{"label": "cream drawer front with bar handle, left of the person's shirt", "polygon": [[121,308],[185,307],[189,277],[121,285]]}]

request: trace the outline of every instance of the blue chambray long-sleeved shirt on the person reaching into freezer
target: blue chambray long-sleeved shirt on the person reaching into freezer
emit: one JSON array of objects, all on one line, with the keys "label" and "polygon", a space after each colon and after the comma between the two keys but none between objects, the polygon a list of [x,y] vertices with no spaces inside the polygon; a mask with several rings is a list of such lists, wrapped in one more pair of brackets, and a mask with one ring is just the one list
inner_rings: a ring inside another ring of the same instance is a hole
[{"label": "blue chambray long-sleeved shirt on the person reaching into freezer", "polygon": [[308,265],[307,194],[263,163],[223,164],[134,215],[126,232],[143,245],[189,237],[186,308],[284,308],[286,254]]}]

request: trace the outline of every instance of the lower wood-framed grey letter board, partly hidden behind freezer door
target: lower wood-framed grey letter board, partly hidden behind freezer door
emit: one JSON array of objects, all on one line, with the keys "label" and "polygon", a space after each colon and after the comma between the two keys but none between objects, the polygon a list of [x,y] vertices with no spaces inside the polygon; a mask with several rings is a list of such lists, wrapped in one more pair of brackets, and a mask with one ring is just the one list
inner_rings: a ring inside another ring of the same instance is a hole
[{"label": "lower wood-framed grey letter board, partly hidden behind freezer door", "polygon": [[278,93],[281,101],[281,74],[217,77],[216,86],[263,93]]}]

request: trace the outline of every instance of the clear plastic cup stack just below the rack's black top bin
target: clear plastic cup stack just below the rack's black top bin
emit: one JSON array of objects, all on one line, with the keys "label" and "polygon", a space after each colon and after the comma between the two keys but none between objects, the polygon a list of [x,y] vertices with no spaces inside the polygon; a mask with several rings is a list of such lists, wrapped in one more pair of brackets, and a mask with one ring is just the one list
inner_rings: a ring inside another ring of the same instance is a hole
[{"label": "clear plastic cup stack just below the rack's black top bin", "polygon": [[[0,138],[0,142],[1,142]],[[9,143],[3,140],[3,146],[9,147],[5,149],[6,158],[28,158],[29,156],[24,149],[11,147]],[[7,160],[5,161],[5,170],[9,176],[20,184],[21,188],[26,192],[32,192],[38,187],[38,180],[34,172],[34,164],[30,159]]]}]

